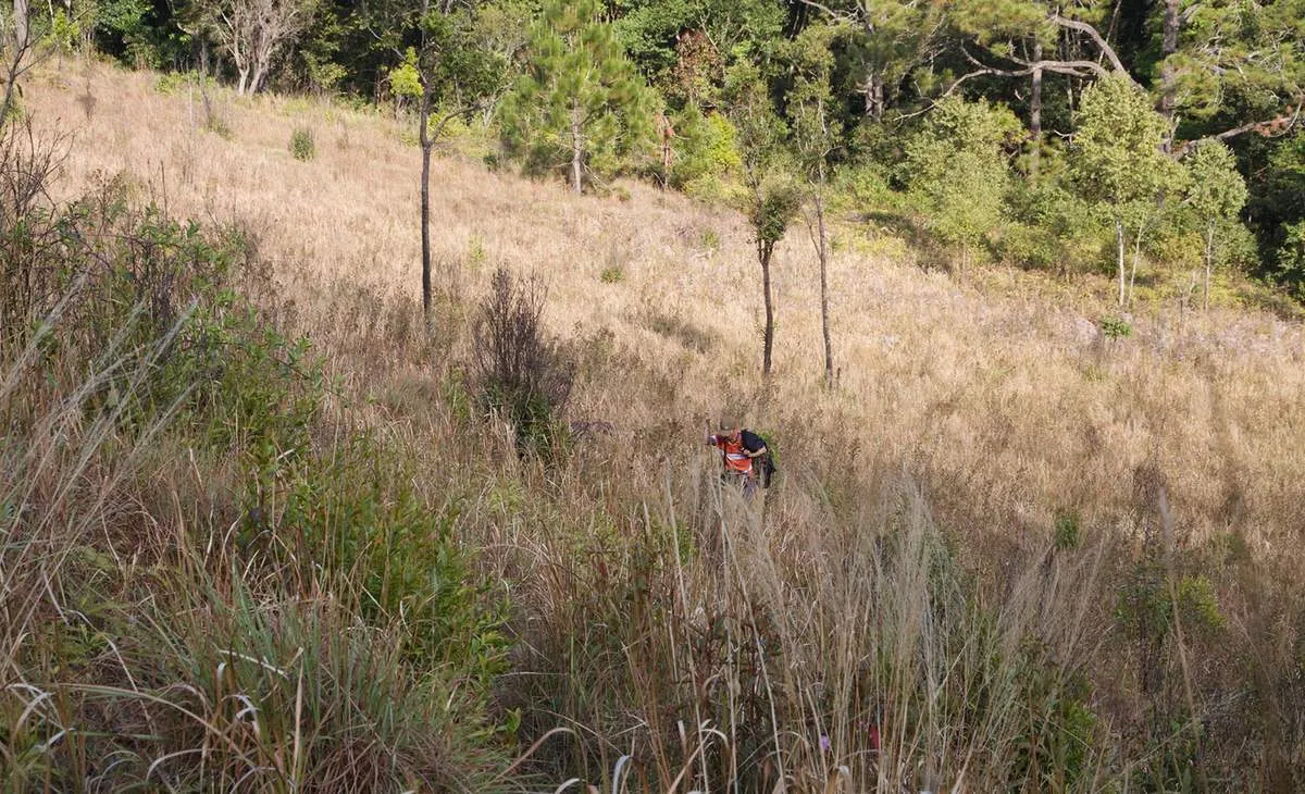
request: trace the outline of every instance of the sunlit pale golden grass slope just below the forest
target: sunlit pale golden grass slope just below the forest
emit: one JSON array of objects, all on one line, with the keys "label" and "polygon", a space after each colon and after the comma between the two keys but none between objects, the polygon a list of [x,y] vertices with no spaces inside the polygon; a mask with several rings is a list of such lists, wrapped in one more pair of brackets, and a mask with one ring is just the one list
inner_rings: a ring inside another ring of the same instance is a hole
[{"label": "sunlit pale golden grass slope just below the forest", "polygon": [[[197,93],[183,85],[164,95],[155,81],[68,64],[34,81],[38,125],[76,135],[63,192],[128,174],[174,214],[244,223],[324,338],[352,330],[328,299],[337,285],[415,299],[419,151],[401,125],[214,90],[223,137],[204,129]],[[288,151],[296,127],[315,133],[311,162]],[[793,481],[904,469],[972,542],[1039,546],[1058,509],[1131,532],[1163,483],[1180,543],[1232,532],[1267,556],[1298,543],[1298,325],[1158,307],[1131,338],[1111,342],[1095,323],[1108,304],[1090,295],[1052,300],[1014,274],[980,285],[925,273],[865,253],[853,244],[861,232],[846,226],[830,273],[840,380],[825,392],[816,261],[796,227],[776,255],[776,387],[766,405],[760,272],[741,218],[646,185],[629,192],[576,197],[444,157],[432,174],[432,238],[437,281],[463,298],[505,265],[548,285],[548,321],[561,336],[592,349],[609,334],[616,353],[582,380],[573,411],[616,424],[617,443],[636,439],[637,454],[706,454],[703,423],[736,411],[776,431]],[[339,367],[367,381],[363,360]]]}]

